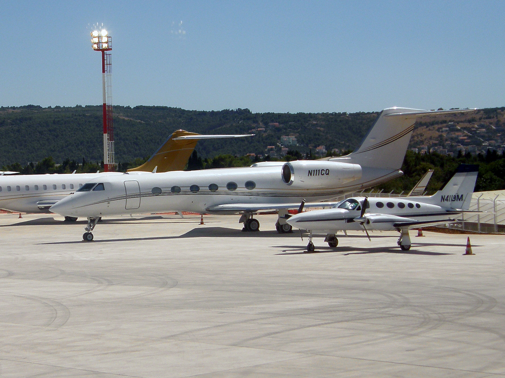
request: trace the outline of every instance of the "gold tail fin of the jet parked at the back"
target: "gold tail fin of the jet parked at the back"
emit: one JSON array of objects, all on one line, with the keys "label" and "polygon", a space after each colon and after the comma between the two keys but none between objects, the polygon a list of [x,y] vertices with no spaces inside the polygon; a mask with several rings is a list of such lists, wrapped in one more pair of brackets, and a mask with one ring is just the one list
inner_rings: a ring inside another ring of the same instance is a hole
[{"label": "gold tail fin of the jet parked at the back", "polygon": [[175,131],[167,141],[149,158],[144,164],[128,169],[128,172],[143,171],[152,172],[156,167],[156,172],[181,171],[186,166],[189,157],[193,153],[198,139],[180,139],[177,137],[199,135],[189,133],[185,130]]}]

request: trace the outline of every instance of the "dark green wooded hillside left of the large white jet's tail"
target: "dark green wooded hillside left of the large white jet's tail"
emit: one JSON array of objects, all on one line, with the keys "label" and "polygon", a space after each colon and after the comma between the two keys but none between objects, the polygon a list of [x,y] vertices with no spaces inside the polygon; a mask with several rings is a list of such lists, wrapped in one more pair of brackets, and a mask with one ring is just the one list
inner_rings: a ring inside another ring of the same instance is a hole
[{"label": "dark green wooded hillside left of the large white jet's tail", "polygon": [[[114,106],[116,162],[153,154],[178,129],[200,134],[256,134],[242,140],[208,140],[197,145],[199,156],[265,154],[283,135],[296,137],[302,153],[324,145],[352,149],[377,113],[251,113],[248,109],[192,111],[164,106]],[[0,108],[0,166],[37,162],[51,156],[103,159],[102,106]],[[275,152],[275,151],[271,151]]]}]

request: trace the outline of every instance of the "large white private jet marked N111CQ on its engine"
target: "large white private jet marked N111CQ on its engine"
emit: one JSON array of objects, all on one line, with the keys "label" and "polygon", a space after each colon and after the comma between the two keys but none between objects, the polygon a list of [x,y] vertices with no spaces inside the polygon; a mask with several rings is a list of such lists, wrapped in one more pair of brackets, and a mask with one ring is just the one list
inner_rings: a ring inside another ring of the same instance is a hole
[{"label": "large white private jet marked N111CQ on its engine", "polygon": [[[86,217],[83,239],[87,241],[93,240],[91,231],[102,216],[164,211],[241,214],[239,222],[244,223],[244,229],[258,231],[260,222],[253,215],[276,210],[276,228],[288,232],[291,226],[286,223],[287,209],[298,208],[302,199],[323,201],[401,175],[403,156],[418,117],[474,110],[388,108],[379,114],[361,145],[346,156],[265,162],[242,168],[99,177],[49,210],[64,216]],[[312,205],[306,204],[309,206]]]}]

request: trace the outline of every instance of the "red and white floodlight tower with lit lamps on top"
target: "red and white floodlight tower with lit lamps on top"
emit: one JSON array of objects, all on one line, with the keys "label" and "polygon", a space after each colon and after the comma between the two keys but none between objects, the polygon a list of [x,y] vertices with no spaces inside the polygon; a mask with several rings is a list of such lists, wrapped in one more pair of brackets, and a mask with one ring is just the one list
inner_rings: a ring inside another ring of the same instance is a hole
[{"label": "red and white floodlight tower with lit lamps on top", "polygon": [[107,30],[91,32],[91,47],[102,51],[102,88],[104,94],[104,171],[114,170],[114,129],[112,127],[112,37]]}]

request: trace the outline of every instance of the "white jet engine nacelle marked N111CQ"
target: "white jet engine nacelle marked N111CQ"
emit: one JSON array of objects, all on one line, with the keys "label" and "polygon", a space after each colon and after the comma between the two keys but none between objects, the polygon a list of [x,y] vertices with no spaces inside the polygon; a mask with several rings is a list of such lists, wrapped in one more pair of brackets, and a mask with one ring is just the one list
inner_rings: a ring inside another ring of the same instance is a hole
[{"label": "white jet engine nacelle marked N111CQ", "polygon": [[358,180],[362,170],[359,164],[327,160],[296,160],[282,166],[282,181],[293,187],[332,187]]}]

